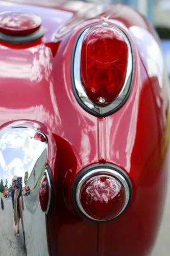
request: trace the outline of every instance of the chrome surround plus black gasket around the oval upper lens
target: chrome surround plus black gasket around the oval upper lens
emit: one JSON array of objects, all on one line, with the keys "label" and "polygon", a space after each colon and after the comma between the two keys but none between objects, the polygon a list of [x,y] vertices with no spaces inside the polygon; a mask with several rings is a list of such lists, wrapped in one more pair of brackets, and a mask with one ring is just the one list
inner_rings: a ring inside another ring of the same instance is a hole
[{"label": "chrome surround plus black gasket around the oval upper lens", "polygon": [[[93,24],[92,26],[95,26],[96,24]],[[87,93],[85,92],[85,89],[83,87],[82,81],[81,81],[81,49],[83,40],[85,38],[86,33],[88,30],[92,27],[86,28],[83,32],[81,32],[76,45],[74,53],[72,54],[72,65],[71,65],[71,76],[72,76],[72,85],[75,97],[79,104],[84,108],[87,112],[90,112],[91,114],[95,116],[108,116],[114,112],[116,112],[121,106],[126,102],[126,100],[129,97],[130,89],[132,86],[133,81],[133,75],[134,75],[134,65],[133,65],[133,50],[131,41],[129,40],[128,36],[126,35],[126,32],[123,31],[122,28],[111,24],[111,23],[101,23],[97,25],[111,25],[120,31],[122,31],[125,40],[128,45],[128,67],[127,67],[127,74],[125,83],[123,86],[122,91],[120,91],[119,95],[108,105],[106,106],[99,106],[96,105],[94,102],[92,102],[89,97],[87,96]]]}]

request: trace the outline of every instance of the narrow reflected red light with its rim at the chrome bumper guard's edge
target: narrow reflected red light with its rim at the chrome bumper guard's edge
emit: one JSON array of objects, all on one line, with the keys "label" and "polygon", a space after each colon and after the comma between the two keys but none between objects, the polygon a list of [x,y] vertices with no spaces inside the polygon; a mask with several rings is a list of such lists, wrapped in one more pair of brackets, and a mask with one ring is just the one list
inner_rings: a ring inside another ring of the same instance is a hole
[{"label": "narrow reflected red light with its rim at the chrome bumper guard's edge", "polygon": [[39,201],[43,212],[47,215],[52,209],[53,194],[52,194],[52,173],[50,167],[46,166],[44,175],[40,183]]}]

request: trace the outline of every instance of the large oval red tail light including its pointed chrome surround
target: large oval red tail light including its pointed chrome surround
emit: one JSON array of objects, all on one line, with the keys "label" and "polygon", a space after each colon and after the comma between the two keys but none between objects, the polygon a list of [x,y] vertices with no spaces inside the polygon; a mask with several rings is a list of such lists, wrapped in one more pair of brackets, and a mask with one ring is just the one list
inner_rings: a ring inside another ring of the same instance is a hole
[{"label": "large oval red tail light including its pointed chrome surround", "polygon": [[74,56],[74,91],[89,112],[106,116],[127,99],[132,82],[132,49],[113,24],[94,25],[78,39]]}]

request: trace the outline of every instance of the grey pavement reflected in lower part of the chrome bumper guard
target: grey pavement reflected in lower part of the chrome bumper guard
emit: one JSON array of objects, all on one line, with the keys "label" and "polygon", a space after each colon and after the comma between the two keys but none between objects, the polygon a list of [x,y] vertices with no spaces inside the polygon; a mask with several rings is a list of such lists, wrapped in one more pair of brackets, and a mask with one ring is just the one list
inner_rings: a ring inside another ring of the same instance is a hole
[{"label": "grey pavement reflected in lower part of the chrome bumper guard", "polygon": [[[2,210],[2,208],[0,208],[0,255],[26,255],[21,221],[19,225],[20,236],[15,237],[13,231],[12,200],[11,198],[3,198],[3,201],[5,209]],[[47,256],[45,216],[40,205],[38,205],[35,214],[30,214],[25,205],[24,221],[27,256]]]}]

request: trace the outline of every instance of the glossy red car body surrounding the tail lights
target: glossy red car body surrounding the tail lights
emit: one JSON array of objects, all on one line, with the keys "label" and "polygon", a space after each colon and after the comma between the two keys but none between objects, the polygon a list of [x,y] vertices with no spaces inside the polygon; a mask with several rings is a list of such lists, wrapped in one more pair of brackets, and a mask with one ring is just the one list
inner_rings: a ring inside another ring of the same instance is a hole
[{"label": "glossy red car body surrounding the tail lights", "polygon": [[[0,123],[35,122],[48,138],[54,187],[46,216],[49,255],[150,255],[166,195],[170,131],[168,78],[164,61],[155,57],[162,57],[155,30],[122,4],[0,2],[1,12],[14,9],[39,15],[45,32],[29,44],[0,43]],[[74,95],[71,59],[79,33],[108,20],[132,42],[134,77],[122,107],[97,117]],[[133,194],[120,217],[100,223],[77,212],[71,189],[85,167],[105,163],[128,174]]]}]

